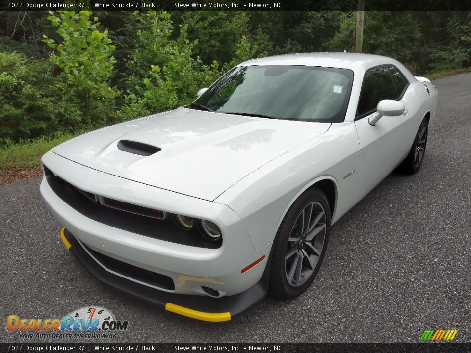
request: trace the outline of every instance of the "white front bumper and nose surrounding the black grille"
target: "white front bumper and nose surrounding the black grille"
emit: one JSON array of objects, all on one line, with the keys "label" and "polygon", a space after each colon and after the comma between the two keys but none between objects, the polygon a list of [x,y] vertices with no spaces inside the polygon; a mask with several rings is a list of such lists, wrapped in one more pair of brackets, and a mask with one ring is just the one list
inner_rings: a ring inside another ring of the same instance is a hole
[{"label": "white front bumper and nose surrounding the black grille", "polygon": [[[165,239],[145,236],[138,231],[107,224],[96,217],[94,211],[90,213],[77,207],[73,199],[64,199],[52,188],[48,178],[43,177],[40,191],[46,204],[59,223],[73,234],[68,235],[71,238],[69,243],[73,245],[75,242],[80,245],[75,249],[83,250],[84,254],[79,259],[100,279],[182,313],[184,310],[179,306],[184,306],[190,298],[197,297],[190,300],[193,310],[215,310],[218,308],[215,303],[220,303],[221,308],[228,308],[224,312],[234,315],[264,296],[257,293],[261,290],[259,287],[263,282],[261,278],[268,263],[271,244],[256,250],[243,221],[229,207],[99,172],[51,151],[43,156],[42,162],[52,173],[83,191],[143,207],[206,218],[222,230],[223,241],[218,248],[175,243],[168,236]],[[130,222],[123,216],[115,218]],[[147,272],[148,277],[141,280],[142,277],[130,277],[123,273],[115,276],[116,273],[109,271],[109,268],[106,270],[100,264],[96,266],[103,256],[106,257],[105,263],[114,261],[127,269],[131,268],[131,272]],[[245,270],[262,257],[260,264]],[[96,269],[92,270],[92,265]],[[122,285],[123,281],[127,284]],[[217,290],[219,296],[211,297],[204,287]],[[266,293],[266,288],[262,292]],[[247,296],[253,298],[246,300]],[[224,299],[226,297],[228,299]],[[178,303],[170,301],[170,298],[177,298]]]}]

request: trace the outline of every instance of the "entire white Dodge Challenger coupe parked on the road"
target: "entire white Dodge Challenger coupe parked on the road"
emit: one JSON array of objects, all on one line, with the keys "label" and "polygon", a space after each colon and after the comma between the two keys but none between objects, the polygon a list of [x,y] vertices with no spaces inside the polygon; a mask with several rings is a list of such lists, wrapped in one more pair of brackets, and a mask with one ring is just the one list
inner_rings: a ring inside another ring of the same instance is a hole
[{"label": "entire white Dodge Challenger coupe parked on the road", "polygon": [[331,225],[396,167],[419,170],[436,103],[383,56],[254,59],[187,106],[54,147],[41,194],[96,277],[226,321],[311,284]]}]

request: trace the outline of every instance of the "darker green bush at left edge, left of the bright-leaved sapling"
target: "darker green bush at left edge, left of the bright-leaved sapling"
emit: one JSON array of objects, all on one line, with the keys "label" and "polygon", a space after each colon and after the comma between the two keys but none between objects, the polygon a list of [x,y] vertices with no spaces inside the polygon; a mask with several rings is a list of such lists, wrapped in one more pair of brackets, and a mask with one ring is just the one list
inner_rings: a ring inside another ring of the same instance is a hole
[{"label": "darker green bush at left edge, left of the bright-leaved sapling", "polygon": [[80,110],[45,60],[0,52],[0,143],[80,126]]}]

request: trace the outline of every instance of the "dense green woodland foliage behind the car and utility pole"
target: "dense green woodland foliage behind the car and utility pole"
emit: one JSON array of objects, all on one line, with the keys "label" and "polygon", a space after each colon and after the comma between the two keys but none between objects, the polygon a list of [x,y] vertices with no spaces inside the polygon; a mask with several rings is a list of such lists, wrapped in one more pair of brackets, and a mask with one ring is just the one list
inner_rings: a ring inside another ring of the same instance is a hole
[{"label": "dense green woodland foliage behind the car and utility pole", "polygon": [[[0,144],[174,108],[259,56],[352,51],[354,11],[0,12]],[[471,12],[368,11],[364,52],[471,65]]]}]

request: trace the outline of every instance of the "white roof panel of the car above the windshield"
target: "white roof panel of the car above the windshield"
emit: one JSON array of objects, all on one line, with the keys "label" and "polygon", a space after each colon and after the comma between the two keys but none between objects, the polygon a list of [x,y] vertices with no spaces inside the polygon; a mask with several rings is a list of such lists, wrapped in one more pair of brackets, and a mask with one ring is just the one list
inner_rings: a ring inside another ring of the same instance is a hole
[{"label": "white roof panel of the car above the windshield", "polygon": [[269,56],[265,58],[245,61],[237,66],[256,65],[299,65],[299,66],[323,66],[341,69],[368,69],[377,65],[397,64],[392,58],[372,54],[358,53],[302,53]]}]

